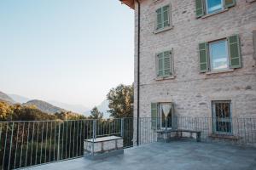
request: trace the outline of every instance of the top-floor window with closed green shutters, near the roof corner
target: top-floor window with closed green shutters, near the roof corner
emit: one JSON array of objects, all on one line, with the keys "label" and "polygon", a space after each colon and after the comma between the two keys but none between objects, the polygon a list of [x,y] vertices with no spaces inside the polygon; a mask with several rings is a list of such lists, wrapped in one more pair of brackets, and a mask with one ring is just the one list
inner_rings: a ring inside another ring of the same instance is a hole
[{"label": "top-floor window with closed green shutters, near the roof corner", "polygon": [[164,29],[170,25],[170,5],[158,8],[156,10],[156,30]]}]

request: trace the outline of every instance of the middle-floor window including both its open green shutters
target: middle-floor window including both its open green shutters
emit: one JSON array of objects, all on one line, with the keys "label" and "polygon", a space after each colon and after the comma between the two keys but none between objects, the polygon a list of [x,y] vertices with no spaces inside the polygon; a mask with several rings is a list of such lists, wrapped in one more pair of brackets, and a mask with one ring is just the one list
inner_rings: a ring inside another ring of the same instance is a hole
[{"label": "middle-floor window including both its open green shutters", "polygon": [[238,35],[199,44],[200,71],[222,71],[241,67]]}]

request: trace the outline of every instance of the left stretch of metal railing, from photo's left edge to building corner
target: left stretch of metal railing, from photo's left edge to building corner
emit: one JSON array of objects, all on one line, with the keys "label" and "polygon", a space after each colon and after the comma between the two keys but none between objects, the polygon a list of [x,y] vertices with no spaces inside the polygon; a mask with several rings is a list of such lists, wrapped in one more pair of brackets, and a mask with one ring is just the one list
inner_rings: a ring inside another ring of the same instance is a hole
[{"label": "left stretch of metal railing, from photo's left edge to building corner", "polygon": [[0,169],[84,156],[84,139],[117,135],[133,145],[133,119],[0,122]]}]

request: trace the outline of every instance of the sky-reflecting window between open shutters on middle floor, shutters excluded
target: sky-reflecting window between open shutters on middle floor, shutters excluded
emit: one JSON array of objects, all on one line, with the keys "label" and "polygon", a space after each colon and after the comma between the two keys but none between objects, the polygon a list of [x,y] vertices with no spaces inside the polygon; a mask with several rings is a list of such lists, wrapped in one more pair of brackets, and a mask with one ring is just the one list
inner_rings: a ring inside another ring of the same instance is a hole
[{"label": "sky-reflecting window between open shutters on middle floor, shutters excluded", "polygon": [[226,40],[209,43],[209,52],[212,71],[229,69],[229,54]]}]

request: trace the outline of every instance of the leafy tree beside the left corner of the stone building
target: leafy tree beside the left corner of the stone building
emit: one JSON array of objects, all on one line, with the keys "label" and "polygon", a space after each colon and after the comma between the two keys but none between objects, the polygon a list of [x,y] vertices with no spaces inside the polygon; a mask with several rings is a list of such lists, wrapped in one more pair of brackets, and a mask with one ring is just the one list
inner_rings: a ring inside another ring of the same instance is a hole
[{"label": "leafy tree beside the left corner of the stone building", "polygon": [[120,84],[109,91],[107,99],[110,116],[115,118],[133,116],[133,91],[133,84]]}]

